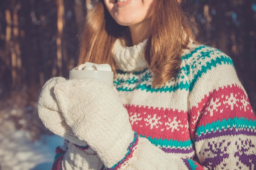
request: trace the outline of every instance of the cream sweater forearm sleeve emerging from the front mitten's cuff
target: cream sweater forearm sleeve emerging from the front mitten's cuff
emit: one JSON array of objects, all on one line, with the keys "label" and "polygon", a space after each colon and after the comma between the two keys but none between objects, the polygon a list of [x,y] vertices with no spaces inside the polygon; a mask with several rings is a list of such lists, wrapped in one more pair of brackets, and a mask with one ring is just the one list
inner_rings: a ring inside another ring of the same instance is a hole
[{"label": "cream sweater forearm sleeve emerging from the front mitten's cuff", "polygon": [[191,159],[170,157],[144,137],[138,137],[130,146],[126,157],[106,170],[203,170]]}]

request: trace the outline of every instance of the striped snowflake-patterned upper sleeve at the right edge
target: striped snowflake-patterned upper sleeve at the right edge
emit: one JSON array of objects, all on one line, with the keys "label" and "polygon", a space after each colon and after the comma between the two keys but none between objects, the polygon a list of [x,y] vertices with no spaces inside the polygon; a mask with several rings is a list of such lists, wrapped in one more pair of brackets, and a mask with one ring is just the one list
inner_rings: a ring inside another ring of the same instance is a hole
[{"label": "striped snowflake-patterned upper sleeve at the right edge", "polygon": [[256,122],[230,57],[213,48],[192,59],[190,133],[207,169],[256,169]]}]

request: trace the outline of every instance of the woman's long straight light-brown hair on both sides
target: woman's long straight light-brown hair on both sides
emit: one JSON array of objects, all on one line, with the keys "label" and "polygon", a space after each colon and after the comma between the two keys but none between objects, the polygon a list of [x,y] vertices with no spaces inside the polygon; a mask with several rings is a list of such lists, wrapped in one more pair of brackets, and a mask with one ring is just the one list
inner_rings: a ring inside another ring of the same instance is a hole
[{"label": "woman's long straight light-brown hair on both sides", "polygon": [[[153,71],[153,86],[164,85],[177,74],[183,49],[195,41],[197,28],[190,24],[177,0],[155,0],[151,16],[151,35],[145,46],[145,58]],[[115,72],[112,46],[117,38],[129,38],[127,26],[111,17],[103,2],[88,12],[81,33],[79,64],[108,63]]]}]

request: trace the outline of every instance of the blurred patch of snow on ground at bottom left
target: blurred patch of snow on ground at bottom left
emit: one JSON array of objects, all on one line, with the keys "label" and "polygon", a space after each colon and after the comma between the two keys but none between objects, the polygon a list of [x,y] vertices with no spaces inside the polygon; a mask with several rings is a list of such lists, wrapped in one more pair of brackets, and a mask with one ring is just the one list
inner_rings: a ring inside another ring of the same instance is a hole
[{"label": "blurred patch of snow on ground at bottom left", "polygon": [[50,170],[55,148],[62,143],[57,135],[31,142],[23,130],[0,134],[0,170]]}]

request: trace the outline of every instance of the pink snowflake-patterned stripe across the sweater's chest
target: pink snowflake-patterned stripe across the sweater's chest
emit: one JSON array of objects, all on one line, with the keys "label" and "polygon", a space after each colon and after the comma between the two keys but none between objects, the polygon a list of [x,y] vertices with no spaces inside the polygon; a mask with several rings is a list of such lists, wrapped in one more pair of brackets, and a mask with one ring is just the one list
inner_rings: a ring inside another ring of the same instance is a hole
[{"label": "pink snowflake-patterned stripe across the sweater's chest", "polygon": [[132,130],[156,139],[189,140],[187,113],[163,108],[126,105]]}]

